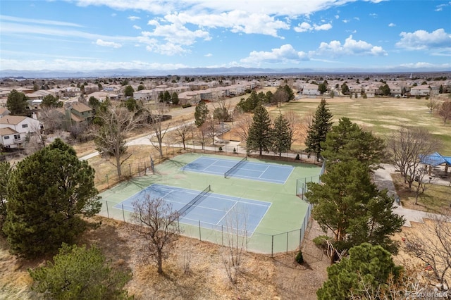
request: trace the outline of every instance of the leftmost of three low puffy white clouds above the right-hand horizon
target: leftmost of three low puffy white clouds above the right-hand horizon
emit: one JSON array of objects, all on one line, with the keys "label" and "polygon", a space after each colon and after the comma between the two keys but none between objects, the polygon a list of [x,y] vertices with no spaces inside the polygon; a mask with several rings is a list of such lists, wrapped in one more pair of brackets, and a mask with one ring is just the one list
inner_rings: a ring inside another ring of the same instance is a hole
[{"label": "leftmost of three low puffy white clouds above the right-hand horizon", "polygon": [[285,44],[271,51],[252,51],[249,56],[242,58],[241,63],[260,65],[261,63],[299,63],[307,61],[307,54],[296,51],[292,45]]}]

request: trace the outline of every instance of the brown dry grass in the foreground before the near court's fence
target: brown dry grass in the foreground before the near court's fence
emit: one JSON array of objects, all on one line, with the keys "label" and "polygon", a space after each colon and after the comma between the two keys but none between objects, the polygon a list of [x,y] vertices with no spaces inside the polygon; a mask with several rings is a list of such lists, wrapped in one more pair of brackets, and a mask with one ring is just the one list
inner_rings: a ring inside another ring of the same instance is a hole
[{"label": "brown dry grass in the foreground before the near court's fence", "polygon": [[[137,264],[128,227],[116,220],[100,218],[97,230],[86,232],[80,244],[97,244],[113,266],[129,268],[133,277],[127,289],[135,299],[316,299],[316,289],[326,280],[328,258],[306,235],[304,265],[295,263],[295,253],[275,258],[247,253],[242,273],[232,285],[223,266],[223,248],[209,242],[180,237],[173,253],[163,263],[163,275],[154,265]],[[36,299],[30,292],[32,282],[27,268],[42,261],[23,261],[7,252],[0,244],[1,299]],[[190,272],[185,273],[183,260],[190,254]],[[2,298],[3,297],[3,298]]]}]

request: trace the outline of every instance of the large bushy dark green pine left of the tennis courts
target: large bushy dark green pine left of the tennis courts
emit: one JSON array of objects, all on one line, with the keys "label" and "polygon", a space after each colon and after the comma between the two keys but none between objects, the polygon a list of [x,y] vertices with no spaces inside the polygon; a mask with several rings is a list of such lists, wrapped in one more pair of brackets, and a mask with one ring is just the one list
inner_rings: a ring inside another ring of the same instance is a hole
[{"label": "large bushy dark green pine left of the tennis courts", "polygon": [[94,169],[61,139],[18,163],[8,180],[4,233],[11,252],[34,257],[73,243],[101,208]]}]

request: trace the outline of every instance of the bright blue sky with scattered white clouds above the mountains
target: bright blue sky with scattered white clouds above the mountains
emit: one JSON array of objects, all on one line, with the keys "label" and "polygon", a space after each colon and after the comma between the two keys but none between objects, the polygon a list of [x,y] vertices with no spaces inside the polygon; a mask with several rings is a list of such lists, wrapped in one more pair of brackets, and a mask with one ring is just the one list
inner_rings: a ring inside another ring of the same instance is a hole
[{"label": "bright blue sky with scattered white clouds above the mountains", "polygon": [[1,70],[451,70],[451,1],[0,0]]}]

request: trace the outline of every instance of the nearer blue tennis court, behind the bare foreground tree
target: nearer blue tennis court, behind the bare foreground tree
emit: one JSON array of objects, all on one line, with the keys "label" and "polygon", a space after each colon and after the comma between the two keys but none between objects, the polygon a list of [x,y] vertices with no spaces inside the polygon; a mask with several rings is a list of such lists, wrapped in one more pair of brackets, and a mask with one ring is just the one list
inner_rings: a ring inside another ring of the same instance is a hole
[{"label": "nearer blue tennis court, behind the bare foreground tree", "polygon": [[[190,201],[197,198],[198,195],[199,202],[190,206]],[[222,226],[233,227],[231,225],[231,222],[233,222],[233,224],[243,226],[243,228],[233,229],[247,230],[248,237],[252,236],[271,206],[269,202],[215,194],[209,189],[197,191],[154,184],[116,204],[113,208],[132,212],[132,202],[137,199],[145,199],[146,196],[150,196],[152,199],[161,198],[166,203],[171,204],[173,210],[182,212],[180,223],[198,225],[202,221],[202,227],[218,230]],[[244,216],[246,220],[237,222],[237,219],[244,218]],[[245,232],[242,232],[242,234],[245,235]]]}]

